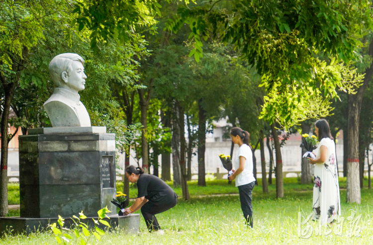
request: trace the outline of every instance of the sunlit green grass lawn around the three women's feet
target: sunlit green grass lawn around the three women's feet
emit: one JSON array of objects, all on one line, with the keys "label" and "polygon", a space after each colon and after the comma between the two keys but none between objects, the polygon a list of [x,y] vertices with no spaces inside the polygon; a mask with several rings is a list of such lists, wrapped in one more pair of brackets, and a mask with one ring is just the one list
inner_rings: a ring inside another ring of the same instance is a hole
[{"label": "sunlit green grass lawn around the three women's feet", "polygon": [[[274,181],[275,183],[275,181]],[[171,183],[170,183],[171,184]],[[330,234],[318,236],[312,233],[309,239],[299,238],[298,210],[303,216],[312,211],[312,184],[299,184],[297,178],[284,179],[284,197],[276,199],[276,186],[270,185],[270,193],[262,193],[262,186],[255,186],[253,191],[254,229],[246,229],[240,207],[239,197],[206,196],[222,193],[238,193],[234,183],[227,180],[208,181],[206,187],[199,187],[196,181],[190,181],[190,201],[179,198],[178,205],[162,214],[157,219],[163,229],[164,236],[149,234],[143,218],[140,218],[140,230],[137,235],[128,235],[114,231],[102,241],[93,244],[372,244],[373,241],[373,190],[363,188],[362,204],[347,204],[346,178],[340,178],[342,216],[351,216],[351,210],[362,214],[361,232],[358,237],[350,236],[351,222],[345,221],[341,236]],[[259,184],[261,181],[259,180]],[[367,186],[367,180],[365,180]],[[120,183],[119,183],[120,185]],[[181,189],[175,191],[182,196]],[[135,186],[130,189],[130,197],[135,197]],[[137,213],[140,213],[139,211]],[[356,217],[356,216],[355,216]],[[303,221],[303,218],[302,218]],[[316,229],[317,223],[310,222]],[[338,225],[335,225],[336,227]],[[358,226],[355,226],[355,228]],[[326,232],[328,230],[325,230]],[[352,230],[351,230],[352,231]],[[93,242],[93,241],[92,241]],[[8,236],[0,239],[0,244],[44,245],[57,244],[51,234],[36,234],[29,237]]]}]

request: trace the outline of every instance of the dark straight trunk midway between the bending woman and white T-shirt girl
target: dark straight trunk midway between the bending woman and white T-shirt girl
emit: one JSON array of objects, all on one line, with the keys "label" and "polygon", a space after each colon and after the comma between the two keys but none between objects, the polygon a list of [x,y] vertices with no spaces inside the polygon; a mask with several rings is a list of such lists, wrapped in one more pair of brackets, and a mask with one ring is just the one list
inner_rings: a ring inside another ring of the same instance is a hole
[{"label": "dark straight trunk midway between the bending woman and white T-shirt girl", "polygon": [[198,185],[206,186],[204,154],[206,150],[206,111],[198,101]]}]

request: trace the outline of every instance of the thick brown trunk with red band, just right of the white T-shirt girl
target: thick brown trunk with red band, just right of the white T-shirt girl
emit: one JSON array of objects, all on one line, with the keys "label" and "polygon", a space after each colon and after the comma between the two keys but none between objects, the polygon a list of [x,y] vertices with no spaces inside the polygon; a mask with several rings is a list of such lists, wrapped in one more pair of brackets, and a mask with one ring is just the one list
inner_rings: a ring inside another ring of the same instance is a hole
[{"label": "thick brown trunk with red band, just right of the white T-shirt girl", "polygon": [[283,197],[283,177],[282,177],[282,156],[280,150],[280,140],[277,134],[276,122],[271,124],[272,134],[276,149],[276,198]]}]

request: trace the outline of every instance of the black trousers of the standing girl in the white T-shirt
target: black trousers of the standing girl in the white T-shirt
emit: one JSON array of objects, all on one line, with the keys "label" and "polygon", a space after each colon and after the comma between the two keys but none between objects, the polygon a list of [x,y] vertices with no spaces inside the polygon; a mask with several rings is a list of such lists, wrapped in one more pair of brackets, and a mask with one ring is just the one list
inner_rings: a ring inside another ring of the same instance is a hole
[{"label": "black trousers of the standing girl in the white T-shirt", "polygon": [[244,213],[246,224],[253,228],[253,205],[251,204],[253,188],[255,181],[238,186],[238,192],[240,193],[241,209]]}]

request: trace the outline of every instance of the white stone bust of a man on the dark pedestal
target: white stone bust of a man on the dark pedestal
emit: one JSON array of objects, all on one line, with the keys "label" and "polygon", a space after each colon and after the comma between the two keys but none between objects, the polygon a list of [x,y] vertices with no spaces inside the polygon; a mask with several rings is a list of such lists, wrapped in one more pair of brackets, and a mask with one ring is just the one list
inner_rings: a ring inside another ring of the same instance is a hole
[{"label": "white stone bust of a man on the dark pedestal", "polygon": [[54,92],[44,103],[52,127],[90,127],[91,119],[80,101],[85,88],[84,60],[72,53],[59,54],[49,63]]}]

